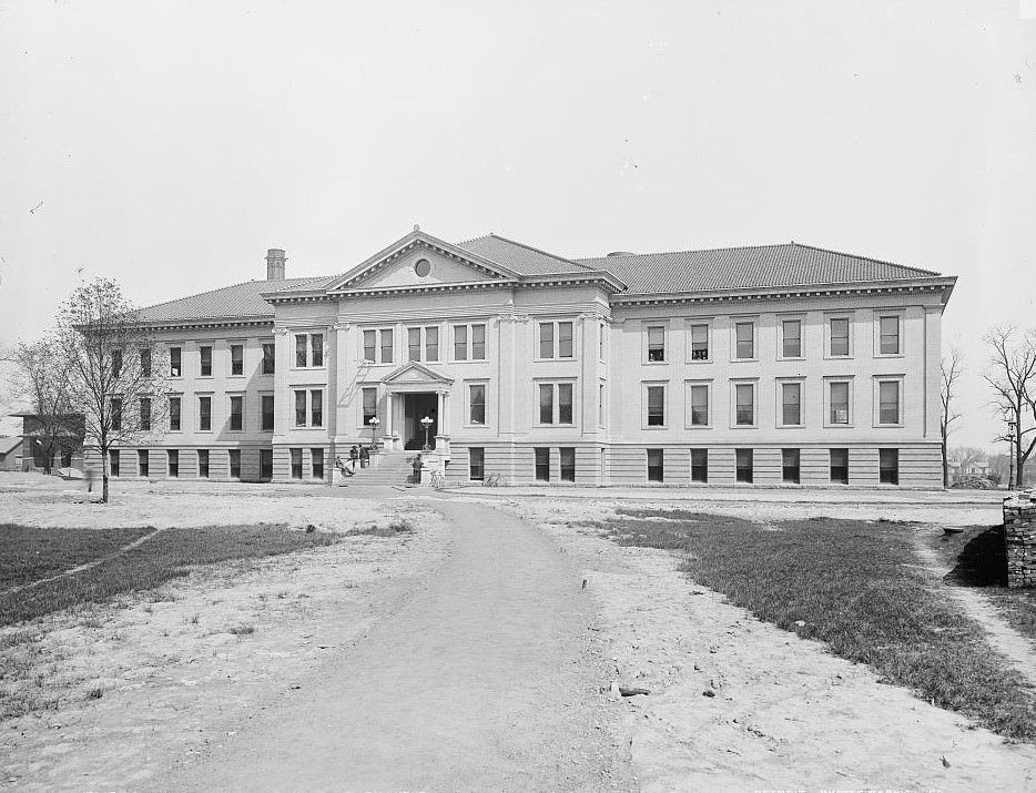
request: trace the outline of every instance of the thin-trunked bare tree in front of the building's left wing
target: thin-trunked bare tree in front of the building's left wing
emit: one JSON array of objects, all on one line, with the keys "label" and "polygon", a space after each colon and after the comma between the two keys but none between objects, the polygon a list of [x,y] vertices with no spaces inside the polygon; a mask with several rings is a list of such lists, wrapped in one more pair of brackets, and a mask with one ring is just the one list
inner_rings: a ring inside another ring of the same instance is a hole
[{"label": "thin-trunked bare tree in front of the building's left wing", "polygon": [[69,380],[85,415],[84,447],[101,458],[101,500],[106,502],[111,451],[145,443],[164,420],[169,366],[114,281],[78,286],[62,305],[58,325]]}]

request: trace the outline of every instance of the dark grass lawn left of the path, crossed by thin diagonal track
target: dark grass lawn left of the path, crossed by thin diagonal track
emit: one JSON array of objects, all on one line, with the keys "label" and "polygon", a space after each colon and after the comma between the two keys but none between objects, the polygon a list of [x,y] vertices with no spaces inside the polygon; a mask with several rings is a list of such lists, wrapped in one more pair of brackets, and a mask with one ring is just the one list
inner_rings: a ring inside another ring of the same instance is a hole
[{"label": "dark grass lawn left of the path, crossed by thin diagonal track", "polygon": [[[38,581],[105,557],[153,529],[37,529],[0,527],[0,589]],[[196,565],[254,559],[331,545],[323,533],[282,526],[219,526],[166,529],[94,568],[0,596],[0,626],[42,617],[80,603],[97,603],[154,589],[186,576]]]}]

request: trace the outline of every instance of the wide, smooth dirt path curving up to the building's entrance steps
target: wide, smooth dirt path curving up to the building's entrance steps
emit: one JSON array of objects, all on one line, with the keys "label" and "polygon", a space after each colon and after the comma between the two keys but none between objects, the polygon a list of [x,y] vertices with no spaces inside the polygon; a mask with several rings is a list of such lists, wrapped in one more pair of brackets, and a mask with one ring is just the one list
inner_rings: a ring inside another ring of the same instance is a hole
[{"label": "wide, smooth dirt path curving up to the building's entrance steps", "polygon": [[170,790],[628,790],[591,600],[521,520],[437,501],[426,589]]}]

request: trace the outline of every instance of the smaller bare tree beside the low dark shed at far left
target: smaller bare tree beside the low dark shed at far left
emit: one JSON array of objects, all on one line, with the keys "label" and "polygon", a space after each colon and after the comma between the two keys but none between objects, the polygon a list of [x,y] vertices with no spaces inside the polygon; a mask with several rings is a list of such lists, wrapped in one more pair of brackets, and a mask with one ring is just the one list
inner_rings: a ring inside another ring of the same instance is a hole
[{"label": "smaller bare tree beside the low dark shed at far left", "polygon": [[50,474],[54,456],[78,448],[83,440],[82,415],[72,403],[64,356],[58,339],[45,335],[32,344],[14,345],[10,360],[13,390],[32,414],[32,441],[40,446],[43,472]]}]

